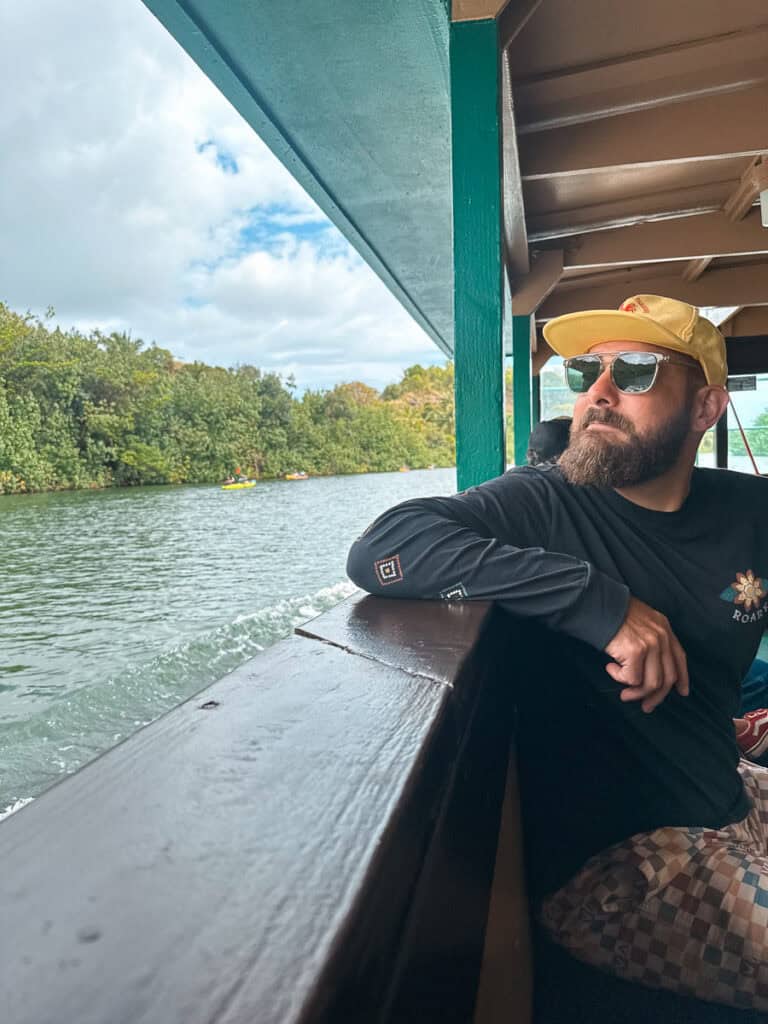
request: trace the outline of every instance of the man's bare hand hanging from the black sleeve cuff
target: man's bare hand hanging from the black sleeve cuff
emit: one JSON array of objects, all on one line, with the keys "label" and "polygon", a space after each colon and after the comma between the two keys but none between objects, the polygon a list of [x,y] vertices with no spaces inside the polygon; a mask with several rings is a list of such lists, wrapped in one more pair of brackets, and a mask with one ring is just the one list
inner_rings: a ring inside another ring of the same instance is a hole
[{"label": "man's bare hand hanging from the black sleeve cuff", "polygon": [[659,611],[630,598],[627,617],[605,647],[613,660],[605,671],[627,689],[622,700],[642,700],[645,712],[653,711],[674,686],[688,696],[688,664],[669,620]]}]

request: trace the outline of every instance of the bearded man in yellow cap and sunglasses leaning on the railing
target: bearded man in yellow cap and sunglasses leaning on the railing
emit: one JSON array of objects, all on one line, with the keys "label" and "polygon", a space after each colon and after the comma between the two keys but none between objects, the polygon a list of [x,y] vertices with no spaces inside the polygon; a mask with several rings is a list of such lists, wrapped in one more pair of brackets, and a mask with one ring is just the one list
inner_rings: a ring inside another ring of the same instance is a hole
[{"label": "bearded man in yellow cap and sunglasses leaning on the railing", "polygon": [[722,335],[639,295],[545,328],[578,393],[557,465],[406,502],[352,580],[525,620],[527,861],[555,941],[643,984],[768,1009],[768,771],[740,681],[768,624],[768,482],[695,469],[727,403]]}]

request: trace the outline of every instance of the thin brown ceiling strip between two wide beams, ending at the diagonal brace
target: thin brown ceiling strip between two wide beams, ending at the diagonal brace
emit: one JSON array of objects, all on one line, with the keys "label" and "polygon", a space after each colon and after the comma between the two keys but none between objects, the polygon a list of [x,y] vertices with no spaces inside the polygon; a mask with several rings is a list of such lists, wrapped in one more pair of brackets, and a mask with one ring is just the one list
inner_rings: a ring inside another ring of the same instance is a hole
[{"label": "thin brown ceiling strip between two wide beams, ending at the diagonal brace", "polygon": [[528,217],[528,241],[543,242],[585,231],[612,230],[646,220],[714,213],[722,207],[730,186],[729,181],[713,181],[648,196],[633,196],[612,203],[583,206],[575,210],[534,214]]}]

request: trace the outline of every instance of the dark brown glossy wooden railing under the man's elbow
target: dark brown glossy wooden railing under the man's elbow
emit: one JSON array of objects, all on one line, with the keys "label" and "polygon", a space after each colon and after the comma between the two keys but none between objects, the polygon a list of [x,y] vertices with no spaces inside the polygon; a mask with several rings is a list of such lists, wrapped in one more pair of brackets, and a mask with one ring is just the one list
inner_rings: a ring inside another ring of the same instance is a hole
[{"label": "dark brown glossy wooden railing under the man's elbow", "polygon": [[351,599],[4,821],[2,1020],[492,1020],[499,614]]}]

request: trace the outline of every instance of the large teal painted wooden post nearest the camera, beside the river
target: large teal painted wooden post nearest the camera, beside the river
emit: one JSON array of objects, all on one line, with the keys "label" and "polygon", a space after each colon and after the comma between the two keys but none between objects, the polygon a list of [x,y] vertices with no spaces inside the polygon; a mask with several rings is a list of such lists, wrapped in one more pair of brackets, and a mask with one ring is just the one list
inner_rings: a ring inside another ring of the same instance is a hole
[{"label": "large teal painted wooden post nearest the camera, beside the river", "polygon": [[456,472],[460,490],[503,473],[504,278],[495,20],[451,26]]}]

